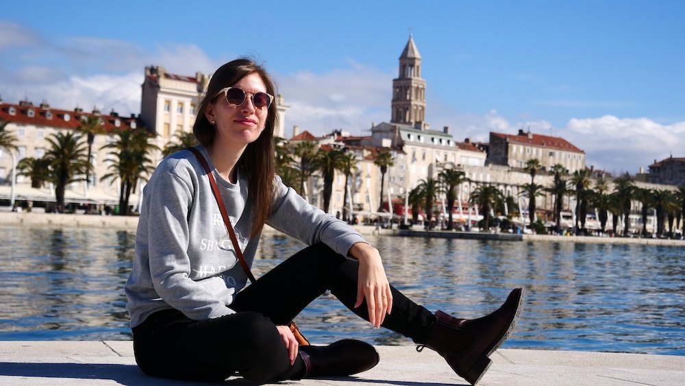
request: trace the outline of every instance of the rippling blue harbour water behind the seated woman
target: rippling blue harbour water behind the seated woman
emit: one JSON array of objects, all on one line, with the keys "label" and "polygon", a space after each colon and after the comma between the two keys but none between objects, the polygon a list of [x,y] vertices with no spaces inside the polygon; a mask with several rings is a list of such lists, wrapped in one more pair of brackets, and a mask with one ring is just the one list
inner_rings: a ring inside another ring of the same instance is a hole
[{"label": "rippling blue harbour water behind the seated woman", "polygon": [[[685,354],[685,248],[369,239],[393,285],[432,311],[478,317],[525,287],[525,313],[505,347]],[[0,340],[130,339],[123,285],[134,245],[132,232],[0,228]],[[256,276],[302,247],[264,237]],[[316,343],[410,344],[330,294],[297,321]]]}]

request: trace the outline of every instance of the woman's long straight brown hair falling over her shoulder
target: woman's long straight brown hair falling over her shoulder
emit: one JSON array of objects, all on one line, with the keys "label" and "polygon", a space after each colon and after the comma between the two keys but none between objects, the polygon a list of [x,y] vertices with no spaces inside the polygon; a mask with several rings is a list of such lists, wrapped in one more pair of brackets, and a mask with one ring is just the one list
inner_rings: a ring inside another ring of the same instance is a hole
[{"label": "woman's long straight brown hair falling over her shoulder", "polygon": [[[214,75],[212,75],[207,91],[195,114],[197,118],[195,119],[195,125],[192,126],[192,132],[199,143],[208,147],[214,143],[214,138],[216,138],[216,128],[205,117],[205,110],[213,103],[216,94],[222,88],[233,86],[251,73],[257,73],[262,78],[267,93],[277,95],[269,73],[253,60],[240,58],[219,67],[214,72]],[[238,171],[245,173],[249,182],[248,199],[252,202],[252,230],[250,237],[256,237],[259,234],[264,223],[266,223],[266,218],[271,213],[276,165],[273,148],[273,129],[277,119],[278,111],[274,102],[269,106],[262,134],[260,134],[256,141],[247,145],[237,164]]]}]

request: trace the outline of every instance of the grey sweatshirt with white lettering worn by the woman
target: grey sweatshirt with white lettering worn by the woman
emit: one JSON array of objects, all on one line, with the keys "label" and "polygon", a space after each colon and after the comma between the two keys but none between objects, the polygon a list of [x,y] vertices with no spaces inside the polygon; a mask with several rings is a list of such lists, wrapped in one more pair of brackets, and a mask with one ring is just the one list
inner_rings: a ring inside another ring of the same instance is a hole
[{"label": "grey sweatshirt with white lettering worn by the woman", "polygon": [[[225,180],[206,149],[202,145],[197,149],[212,168],[238,244],[251,266],[260,237],[250,237],[247,178],[238,171],[236,184]],[[343,255],[354,243],[364,241],[278,177],[273,213],[266,223],[308,245],[323,242]],[[229,306],[246,283],[202,165],[188,150],[164,158],[143,191],[134,265],[125,285],[131,326],[164,309],[177,309],[196,320],[235,313]]]}]

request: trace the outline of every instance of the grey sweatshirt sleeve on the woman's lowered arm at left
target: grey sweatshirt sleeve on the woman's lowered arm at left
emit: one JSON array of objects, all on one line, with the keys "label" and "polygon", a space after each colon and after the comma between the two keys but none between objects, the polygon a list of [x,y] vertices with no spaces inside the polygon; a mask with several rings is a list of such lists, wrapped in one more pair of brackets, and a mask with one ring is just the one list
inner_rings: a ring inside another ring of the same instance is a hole
[{"label": "grey sweatshirt sleeve on the woman's lowered arm at left", "polygon": [[[155,291],[164,302],[191,319],[234,313],[211,291],[212,285],[200,285],[190,278],[188,218],[197,189],[197,175],[192,167],[176,167],[157,177],[146,186],[144,209],[149,227],[149,269]],[[214,279],[220,281],[220,278],[205,280]],[[218,285],[221,287],[223,283]]]}]

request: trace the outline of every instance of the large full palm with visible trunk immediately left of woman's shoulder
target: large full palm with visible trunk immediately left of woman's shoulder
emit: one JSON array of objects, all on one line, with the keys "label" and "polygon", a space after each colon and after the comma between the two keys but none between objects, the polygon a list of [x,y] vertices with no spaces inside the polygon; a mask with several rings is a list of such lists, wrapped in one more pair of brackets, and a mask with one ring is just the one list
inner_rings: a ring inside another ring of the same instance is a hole
[{"label": "large full palm with visible trunk immediately left of woman's shoulder", "polygon": [[110,173],[100,180],[119,178],[119,215],[129,214],[129,198],[135,191],[138,180],[147,180],[146,175],[154,170],[149,153],[158,150],[150,143],[151,134],[145,128],[119,130],[115,132],[116,141],[104,145],[101,149],[111,149],[108,153],[116,157],[110,165]]}]

